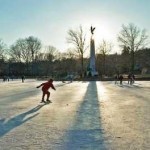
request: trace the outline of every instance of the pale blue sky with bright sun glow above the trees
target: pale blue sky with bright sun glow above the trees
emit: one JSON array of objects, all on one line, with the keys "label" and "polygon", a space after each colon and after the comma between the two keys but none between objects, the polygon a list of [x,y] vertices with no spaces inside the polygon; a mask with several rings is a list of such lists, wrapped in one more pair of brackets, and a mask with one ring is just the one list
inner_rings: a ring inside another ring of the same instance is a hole
[{"label": "pale blue sky with bright sun glow above the trees", "polygon": [[81,25],[90,43],[90,26],[96,27],[96,47],[105,39],[119,50],[122,24],[134,23],[150,36],[150,0],[0,0],[0,39],[10,46],[19,38],[35,36],[44,46],[60,51],[70,47],[69,29]]}]

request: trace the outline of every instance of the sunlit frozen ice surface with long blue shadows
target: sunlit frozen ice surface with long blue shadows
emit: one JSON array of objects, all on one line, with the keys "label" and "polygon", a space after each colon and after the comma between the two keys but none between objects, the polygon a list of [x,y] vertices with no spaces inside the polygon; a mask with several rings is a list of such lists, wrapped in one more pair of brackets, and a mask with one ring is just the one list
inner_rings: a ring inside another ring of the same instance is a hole
[{"label": "sunlit frozen ice surface with long blue shadows", "polygon": [[0,82],[0,150],[148,150],[150,81]]}]

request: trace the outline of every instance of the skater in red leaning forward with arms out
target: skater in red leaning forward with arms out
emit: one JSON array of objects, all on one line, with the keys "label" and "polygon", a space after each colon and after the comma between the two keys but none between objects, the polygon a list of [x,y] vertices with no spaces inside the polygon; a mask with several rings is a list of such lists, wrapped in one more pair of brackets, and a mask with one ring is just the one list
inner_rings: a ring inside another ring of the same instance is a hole
[{"label": "skater in red leaning forward with arms out", "polygon": [[48,80],[45,83],[42,83],[41,85],[37,86],[36,88],[39,88],[41,86],[42,86],[42,92],[43,92],[41,103],[45,103],[45,101],[44,101],[45,94],[47,94],[47,100],[46,100],[46,102],[50,103],[51,102],[49,100],[50,92],[48,91],[48,89],[51,87],[53,90],[56,90],[55,87],[54,87],[54,85],[53,85],[53,79],[50,79],[50,80]]}]

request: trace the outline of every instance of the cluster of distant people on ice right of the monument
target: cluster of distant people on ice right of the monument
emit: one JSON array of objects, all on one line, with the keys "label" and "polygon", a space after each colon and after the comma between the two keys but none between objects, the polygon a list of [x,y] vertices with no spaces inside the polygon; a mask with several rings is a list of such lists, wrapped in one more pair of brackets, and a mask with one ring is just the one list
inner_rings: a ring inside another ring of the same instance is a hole
[{"label": "cluster of distant people on ice right of the monument", "polygon": [[[124,79],[124,77],[122,74],[121,75],[115,75],[115,84],[117,84],[117,82],[119,81],[120,85],[122,85],[123,79]],[[127,80],[128,80],[128,84],[132,85],[135,81],[135,75],[129,73]]]}]

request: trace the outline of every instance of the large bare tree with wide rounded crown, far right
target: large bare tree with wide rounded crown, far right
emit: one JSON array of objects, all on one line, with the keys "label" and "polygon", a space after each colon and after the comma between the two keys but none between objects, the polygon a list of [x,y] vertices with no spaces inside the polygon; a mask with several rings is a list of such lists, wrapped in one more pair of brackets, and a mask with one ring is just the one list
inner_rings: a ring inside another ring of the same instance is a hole
[{"label": "large bare tree with wide rounded crown, far right", "polygon": [[146,30],[140,30],[137,26],[130,23],[125,26],[122,25],[122,30],[118,35],[118,41],[120,42],[121,47],[128,47],[131,53],[131,71],[134,70],[135,60],[134,54],[135,51],[143,48],[146,45],[148,36],[146,35]]}]

